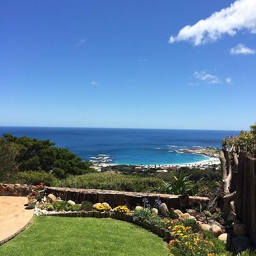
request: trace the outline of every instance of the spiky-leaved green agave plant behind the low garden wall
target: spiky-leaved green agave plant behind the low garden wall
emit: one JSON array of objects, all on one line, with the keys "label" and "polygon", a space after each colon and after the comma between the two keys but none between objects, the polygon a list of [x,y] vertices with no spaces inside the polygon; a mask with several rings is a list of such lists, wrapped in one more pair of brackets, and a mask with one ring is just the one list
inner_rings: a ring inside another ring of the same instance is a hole
[{"label": "spiky-leaved green agave plant behind the low garden wall", "polygon": [[175,194],[175,195],[195,195],[198,189],[201,186],[201,180],[197,181],[196,183],[191,181],[189,177],[191,175],[186,176],[183,174],[183,172],[180,172],[178,176],[175,176],[174,180],[170,183],[163,181],[164,187],[169,193]]}]

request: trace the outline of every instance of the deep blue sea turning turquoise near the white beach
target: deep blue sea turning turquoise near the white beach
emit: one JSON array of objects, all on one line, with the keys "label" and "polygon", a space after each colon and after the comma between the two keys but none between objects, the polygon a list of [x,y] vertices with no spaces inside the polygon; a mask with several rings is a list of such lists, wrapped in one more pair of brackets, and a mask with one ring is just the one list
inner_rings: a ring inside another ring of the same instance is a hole
[{"label": "deep blue sea turning turquoise near the white beach", "polygon": [[180,148],[221,147],[222,138],[237,135],[239,131],[0,127],[0,135],[3,133],[49,139],[84,160],[100,158],[114,164],[185,164],[208,158],[182,153]]}]

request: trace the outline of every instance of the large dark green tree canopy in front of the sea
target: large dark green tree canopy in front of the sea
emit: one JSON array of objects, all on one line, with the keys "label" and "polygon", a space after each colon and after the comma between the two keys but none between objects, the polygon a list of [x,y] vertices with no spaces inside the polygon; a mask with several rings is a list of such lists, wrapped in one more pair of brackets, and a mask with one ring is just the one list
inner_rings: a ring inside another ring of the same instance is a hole
[{"label": "large dark green tree canopy in front of the sea", "polygon": [[59,178],[69,174],[82,175],[92,172],[90,163],[83,161],[79,156],[67,148],[59,148],[54,142],[28,137],[15,137],[3,134],[2,141],[14,145],[18,150],[15,162],[19,171],[51,172]]}]

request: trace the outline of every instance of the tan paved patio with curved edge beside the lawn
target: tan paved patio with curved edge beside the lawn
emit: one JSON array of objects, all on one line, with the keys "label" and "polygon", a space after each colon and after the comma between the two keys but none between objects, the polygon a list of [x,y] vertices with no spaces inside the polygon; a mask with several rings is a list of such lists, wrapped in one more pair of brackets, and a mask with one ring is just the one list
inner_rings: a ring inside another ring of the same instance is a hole
[{"label": "tan paved patio with curved edge beside the lawn", "polygon": [[27,197],[0,196],[0,245],[21,232],[30,223],[34,210]]}]

